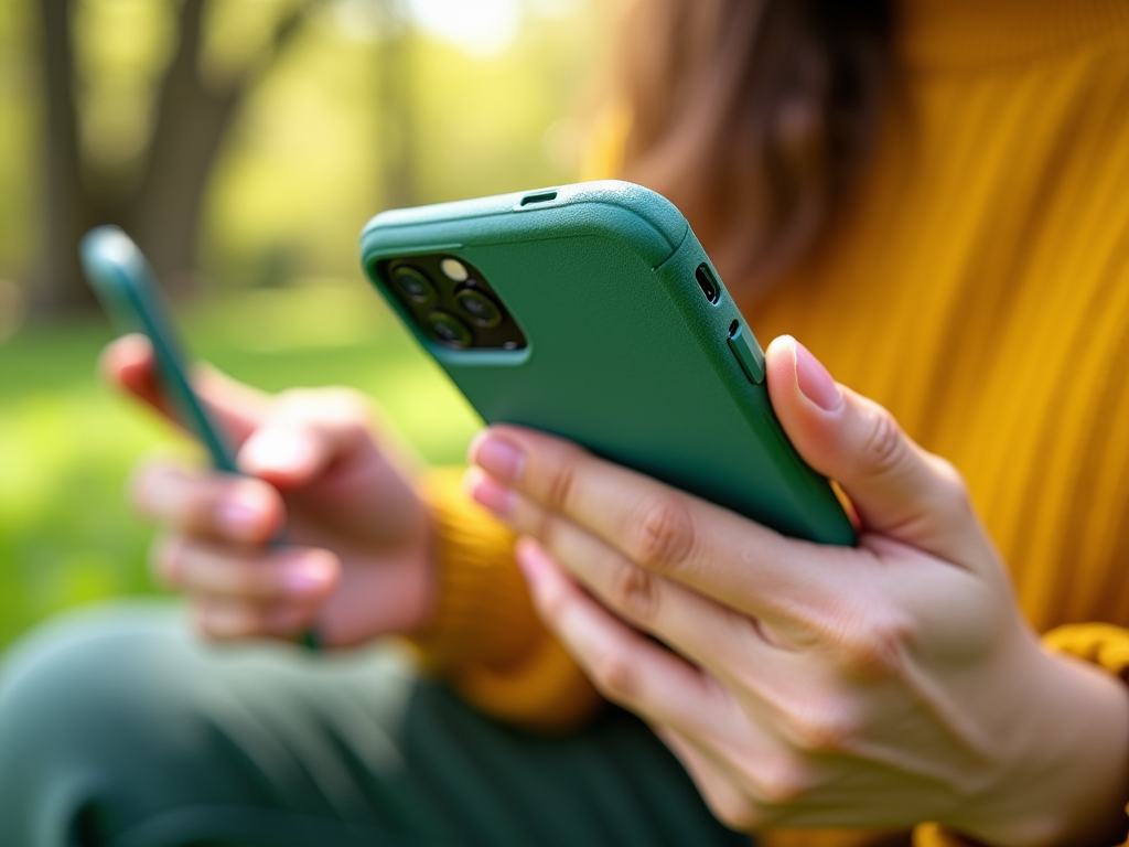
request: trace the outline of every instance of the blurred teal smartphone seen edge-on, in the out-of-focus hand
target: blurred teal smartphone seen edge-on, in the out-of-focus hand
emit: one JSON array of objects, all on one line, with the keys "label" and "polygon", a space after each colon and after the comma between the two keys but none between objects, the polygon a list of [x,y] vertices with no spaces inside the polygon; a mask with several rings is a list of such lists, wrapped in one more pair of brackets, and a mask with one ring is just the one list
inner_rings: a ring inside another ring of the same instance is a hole
[{"label": "blurred teal smartphone seen edge-on, in the out-of-focus hand", "polygon": [[[160,391],[177,421],[204,446],[216,470],[239,473],[235,446],[192,388],[184,347],[141,251],[120,228],[103,226],[82,236],[79,256],[87,281],[117,330],[140,332],[152,344]],[[272,543],[285,540],[279,536]],[[313,630],[298,640],[312,650],[320,643]]]}]

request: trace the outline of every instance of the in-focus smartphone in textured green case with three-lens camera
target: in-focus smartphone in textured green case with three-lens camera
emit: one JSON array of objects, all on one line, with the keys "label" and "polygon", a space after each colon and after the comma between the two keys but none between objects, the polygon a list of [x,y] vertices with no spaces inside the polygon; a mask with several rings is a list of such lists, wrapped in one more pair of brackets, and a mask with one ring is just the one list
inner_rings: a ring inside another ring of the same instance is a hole
[{"label": "in-focus smartphone in textured green case with three-lens camera", "polygon": [[795,538],[852,544],[685,218],[616,181],[382,212],[361,262],[488,424],[569,438]]}]

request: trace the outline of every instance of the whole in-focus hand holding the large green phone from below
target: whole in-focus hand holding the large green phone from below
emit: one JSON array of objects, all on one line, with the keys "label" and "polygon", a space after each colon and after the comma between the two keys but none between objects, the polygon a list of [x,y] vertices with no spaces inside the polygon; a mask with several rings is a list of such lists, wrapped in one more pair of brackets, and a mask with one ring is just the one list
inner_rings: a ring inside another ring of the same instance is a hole
[{"label": "whole in-focus hand holding the large green phone from below", "polygon": [[767,358],[773,409],[850,497],[858,547],[788,539],[493,427],[469,484],[526,536],[518,559],[548,626],[730,827],[1123,837],[1122,683],[1040,647],[952,465],[793,339]]}]

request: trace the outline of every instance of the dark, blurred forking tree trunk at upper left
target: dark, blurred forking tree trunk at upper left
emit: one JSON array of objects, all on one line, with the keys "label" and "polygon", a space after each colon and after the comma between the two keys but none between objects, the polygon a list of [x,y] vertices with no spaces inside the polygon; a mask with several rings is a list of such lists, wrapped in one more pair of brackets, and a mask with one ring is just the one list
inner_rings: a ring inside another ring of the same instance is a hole
[{"label": "dark, blurred forking tree trunk at upper left", "polygon": [[[98,224],[117,224],[133,235],[174,289],[183,291],[191,285],[208,176],[251,82],[250,70],[226,85],[200,73],[207,2],[183,0],[180,40],[161,80],[142,177],[133,190],[111,194],[85,173],[75,96],[72,1],[40,0],[46,145],[43,252],[33,294],[37,312],[65,312],[93,303],[77,247],[82,234]],[[291,40],[304,11],[305,6],[296,3],[285,17],[274,33],[274,53]]]}]

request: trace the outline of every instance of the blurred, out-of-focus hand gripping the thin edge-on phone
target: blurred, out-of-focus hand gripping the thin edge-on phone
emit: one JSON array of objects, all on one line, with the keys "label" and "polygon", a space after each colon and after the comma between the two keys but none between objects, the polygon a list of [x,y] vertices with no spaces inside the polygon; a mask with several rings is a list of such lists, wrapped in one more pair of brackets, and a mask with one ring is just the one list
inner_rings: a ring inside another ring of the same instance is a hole
[{"label": "blurred, out-of-focus hand gripping the thin edge-on phone", "polygon": [[[119,339],[102,361],[112,383],[167,413],[147,339]],[[200,631],[292,638],[313,628],[347,646],[423,627],[435,593],[428,510],[365,398],[269,395],[212,370],[195,388],[247,475],[148,464],[133,498],[166,525],[154,567],[187,595]],[[285,543],[272,544],[280,532]]]}]

